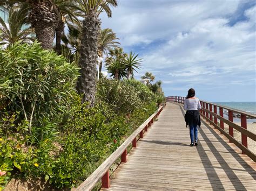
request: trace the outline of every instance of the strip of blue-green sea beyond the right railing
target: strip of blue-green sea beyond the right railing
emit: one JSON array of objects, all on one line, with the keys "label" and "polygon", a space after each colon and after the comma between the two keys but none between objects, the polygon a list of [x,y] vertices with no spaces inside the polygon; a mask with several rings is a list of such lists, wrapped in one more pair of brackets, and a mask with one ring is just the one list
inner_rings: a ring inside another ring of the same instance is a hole
[{"label": "strip of blue-green sea beyond the right railing", "polygon": [[[256,102],[212,102],[216,103],[218,105],[225,105],[229,108],[239,109],[242,111],[246,111],[251,114],[256,114]],[[224,117],[228,118],[225,110],[224,110]],[[234,118],[234,122],[240,122],[239,118]],[[256,119],[247,119],[247,123],[253,123],[256,122]]]}]

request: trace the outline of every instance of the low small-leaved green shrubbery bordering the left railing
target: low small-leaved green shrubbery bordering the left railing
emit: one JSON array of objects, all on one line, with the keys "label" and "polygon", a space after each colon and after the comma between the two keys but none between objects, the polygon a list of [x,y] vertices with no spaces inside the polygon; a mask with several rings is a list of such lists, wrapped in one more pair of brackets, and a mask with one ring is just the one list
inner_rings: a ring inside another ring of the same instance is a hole
[{"label": "low small-leaved green shrubbery bordering the left railing", "polygon": [[[106,105],[86,108],[80,96],[73,96],[69,112],[63,114],[59,126],[62,151],[53,161],[50,183],[58,188],[81,183],[119,146],[129,130],[126,118],[118,116]],[[115,143],[116,142],[116,143]]]}]

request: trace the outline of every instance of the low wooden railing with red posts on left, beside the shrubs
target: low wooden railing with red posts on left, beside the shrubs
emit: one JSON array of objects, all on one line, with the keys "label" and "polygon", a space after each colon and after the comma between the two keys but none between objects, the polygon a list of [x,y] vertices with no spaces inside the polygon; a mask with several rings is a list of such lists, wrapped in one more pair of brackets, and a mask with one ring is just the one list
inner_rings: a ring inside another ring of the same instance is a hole
[{"label": "low wooden railing with red posts on left, beside the shrubs", "polygon": [[[91,190],[95,187],[96,183],[102,180],[102,187],[109,188],[109,168],[114,162],[121,156],[121,162],[126,162],[127,159],[127,147],[132,144],[132,147],[136,147],[137,141],[143,138],[143,133],[147,131],[147,128],[151,126],[154,119],[158,117],[160,112],[163,110],[163,106],[159,107],[157,112],[152,114],[139,128],[128,137],[125,142],[120,145],[116,151],[114,151],[109,158],[107,158],[96,170],[93,172],[76,190]],[[139,139],[137,139],[139,136]]]}]

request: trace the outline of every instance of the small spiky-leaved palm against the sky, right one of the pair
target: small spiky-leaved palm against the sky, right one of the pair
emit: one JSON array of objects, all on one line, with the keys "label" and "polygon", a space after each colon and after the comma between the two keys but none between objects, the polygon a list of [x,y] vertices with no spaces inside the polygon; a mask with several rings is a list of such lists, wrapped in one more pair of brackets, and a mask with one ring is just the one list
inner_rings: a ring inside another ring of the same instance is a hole
[{"label": "small spiky-leaved palm against the sky, right one of the pair", "polygon": [[132,51],[129,54],[125,54],[123,58],[123,63],[126,68],[127,72],[127,79],[130,79],[130,76],[134,76],[133,71],[137,72],[136,69],[140,68],[140,65],[142,63],[142,59],[137,59],[137,55],[135,53],[132,53]]}]

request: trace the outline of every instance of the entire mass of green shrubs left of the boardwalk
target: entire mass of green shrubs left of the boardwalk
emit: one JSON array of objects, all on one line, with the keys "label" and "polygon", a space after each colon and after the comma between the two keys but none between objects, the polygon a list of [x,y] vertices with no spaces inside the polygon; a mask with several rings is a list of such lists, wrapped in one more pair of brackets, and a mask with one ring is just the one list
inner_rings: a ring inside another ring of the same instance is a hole
[{"label": "entire mass of green shrubs left of the boardwalk", "polygon": [[38,43],[10,46],[0,62],[0,189],[14,176],[79,185],[157,109],[144,84],[108,79],[87,108],[73,90],[78,68]]}]

